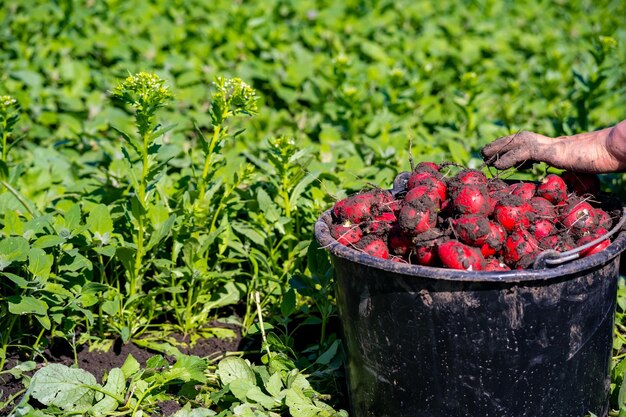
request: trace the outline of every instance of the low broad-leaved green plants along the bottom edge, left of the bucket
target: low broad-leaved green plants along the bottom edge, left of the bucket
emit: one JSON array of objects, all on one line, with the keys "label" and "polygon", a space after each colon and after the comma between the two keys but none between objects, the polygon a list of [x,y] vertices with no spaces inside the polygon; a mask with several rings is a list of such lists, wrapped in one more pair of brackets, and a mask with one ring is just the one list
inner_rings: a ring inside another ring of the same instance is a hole
[{"label": "low broad-leaved green plants along the bottom edge, left of the bucket", "polygon": [[281,354],[267,357],[265,365],[227,357],[217,366],[186,355],[170,365],[157,355],[144,368],[129,355],[120,368],[107,372],[103,384],[87,371],[61,364],[37,370],[10,415],[140,416],[176,400],[185,403],[176,416],[347,417],[325,399]]}]

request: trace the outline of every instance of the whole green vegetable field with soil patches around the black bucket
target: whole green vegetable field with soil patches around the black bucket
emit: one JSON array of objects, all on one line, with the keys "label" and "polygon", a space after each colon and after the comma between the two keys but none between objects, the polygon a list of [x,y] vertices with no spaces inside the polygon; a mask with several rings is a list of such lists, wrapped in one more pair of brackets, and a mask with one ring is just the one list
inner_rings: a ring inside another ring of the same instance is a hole
[{"label": "whole green vegetable field with soil patches around the black bucket", "polygon": [[[0,9],[0,415],[347,416],[316,219],[626,118],[621,1]],[[602,188],[626,196],[621,174]],[[611,414],[626,416],[626,286]],[[130,354],[130,355],[129,355]]]}]

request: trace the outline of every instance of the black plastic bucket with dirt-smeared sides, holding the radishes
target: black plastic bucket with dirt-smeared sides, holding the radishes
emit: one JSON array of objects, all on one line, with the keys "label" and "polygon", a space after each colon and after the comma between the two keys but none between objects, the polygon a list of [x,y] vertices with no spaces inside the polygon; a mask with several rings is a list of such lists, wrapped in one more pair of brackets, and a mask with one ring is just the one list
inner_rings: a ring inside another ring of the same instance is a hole
[{"label": "black plastic bucket with dirt-smeared sides, holding the radishes", "polygon": [[353,417],[606,416],[620,232],[550,269],[378,259],[315,224],[335,269]]}]

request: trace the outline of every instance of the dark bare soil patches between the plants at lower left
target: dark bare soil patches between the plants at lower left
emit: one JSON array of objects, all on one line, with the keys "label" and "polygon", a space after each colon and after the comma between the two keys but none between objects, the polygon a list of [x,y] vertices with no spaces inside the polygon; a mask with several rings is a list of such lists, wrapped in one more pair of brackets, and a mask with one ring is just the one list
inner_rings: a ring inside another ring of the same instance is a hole
[{"label": "dark bare soil patches between the plants at lower left", "polygon": [[[191,347],[188,346],[188,344],[184,343],[186,339],[181,334],[172,334],[170,335],[170,337],[173,337],[179,342],[183,342],[181,343],[181,345],[178,345],[176,347],[182,353],[188,355],[195,355],[200,357],[214,357],[225,352],[239,350],[239,345],[242,341],[242,338],[241,332],[239,331],[238,327],[233,325],[226,325],[219,322],[211,323],[210,327],[231,328],[235,331],[236,337],[231,339],[201,339]],[[128,355],[133,355],[133,357],[137,359],[137,361],[139,361],[142,366],[145,366],[146,361],[155,354],[159,354],[159,352],[154,352],[149,349],[139,347],[132,342],[124,344],[122,343],[121,339],[115,340],[113,346],[107,352],[90,352],[88,346],[86,345],[78,346],[76,350],[78,366],[81,369],[92,373],[96,377],[98,382],[102,382],[102,378],[105,372],[109,371],[112,368],[122,366]],[[45,361],[43,359],[45,359]],[[170,360],[170,362],[173,362],[173,358],[170,357],[167,359]],[[19,358],[17,352],[13,352],[10,355],[9,360],[7,361],[7,368],[11,368],[12,366],[14,366],[14,364],[18,363],[19,360],[25,359]],[[50,346],[43,352],[43,358],[41,362],[42,364],[44,362],[48,362],[60,363],[70,366],[74,364],[74,351],[67,341],[62,339],[54,339],[51,341]],[[22,392],[23,390],[24,385],[22,384],[21,380],[16,380],[10,375],[0,375],[0,403],[4,403],[9,398]],[[0,408],[0,417],[7,416],[17,402],[19,402],[19,398],[17,398],[12,405],[7,405],[4,408]],[[160,408],[160,412],[158,414],[159,416],[170,416],[181,408],[180,405],[175,401],[164,401],[158,405]]]}]

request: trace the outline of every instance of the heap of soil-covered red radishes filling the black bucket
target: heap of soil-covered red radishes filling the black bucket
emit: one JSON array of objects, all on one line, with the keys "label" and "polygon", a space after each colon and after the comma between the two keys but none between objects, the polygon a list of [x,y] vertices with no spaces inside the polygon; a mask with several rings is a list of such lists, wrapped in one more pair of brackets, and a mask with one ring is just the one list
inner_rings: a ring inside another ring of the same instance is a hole
[{"label": "heap of soil-covered red radishes filling the black bucket", "polygon": [[[595,175],[566,172],[538,183],[505,182],[472,169],[452,175],[445,167],[422,162],[402,190],[372,189],[338,201],[331,235],[396,262],[506,271],[532,267],[545,249],[564,252],[591,242],[620,215],[600,204]],[[603,240],[581,255],[609,244]]]}]

